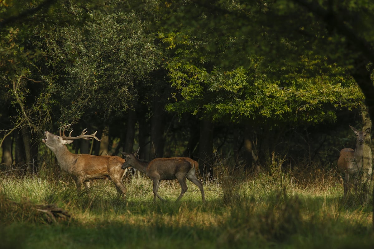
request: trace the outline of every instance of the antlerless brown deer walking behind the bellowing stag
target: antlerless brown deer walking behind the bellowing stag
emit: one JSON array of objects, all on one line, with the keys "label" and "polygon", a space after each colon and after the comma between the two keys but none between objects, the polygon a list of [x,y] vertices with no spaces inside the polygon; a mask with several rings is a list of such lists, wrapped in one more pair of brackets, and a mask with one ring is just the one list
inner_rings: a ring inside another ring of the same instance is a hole
[{"label": "antlerless brown deer walking behind the bellowing stag", "polygon": [[176,201],[180,200],[188,189],[186,184],[187,178],[199,187],[203,202],[205,202],[203,183],[199,181],[195,175],[195,171],[199,168],[199,164],[196,161],[190,158],[156,158],[150,162],[144,162],[137,159],[135,155],[131,153],[122,152],[122,154],[125,156],[125,163],[122,165],[122,169],[133,167],[145,173],[153,180],[153,201],[156,200],[156,196],[159,197],[160,200],[164,200],[157,193],[160,187],[160,181],[173,179],[178,179],[182,187],[181,194]]}]

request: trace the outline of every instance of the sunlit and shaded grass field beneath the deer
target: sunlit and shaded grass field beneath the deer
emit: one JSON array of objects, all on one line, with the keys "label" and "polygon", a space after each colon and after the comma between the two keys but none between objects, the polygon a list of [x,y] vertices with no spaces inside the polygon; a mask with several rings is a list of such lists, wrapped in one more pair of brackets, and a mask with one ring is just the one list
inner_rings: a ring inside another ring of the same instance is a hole
[{"label": "sunlit and shaded grass field beneath the deer", "polygon": [[180,202],[178,182],[162,182],[155,203],[150,179],[125,181],[124,200],[111,181],[78,198],[68,177],[1,176],[0,248],[374,248],[371,207],[343,202],[332,172],[206,180],[205,203],[188,181]]}]

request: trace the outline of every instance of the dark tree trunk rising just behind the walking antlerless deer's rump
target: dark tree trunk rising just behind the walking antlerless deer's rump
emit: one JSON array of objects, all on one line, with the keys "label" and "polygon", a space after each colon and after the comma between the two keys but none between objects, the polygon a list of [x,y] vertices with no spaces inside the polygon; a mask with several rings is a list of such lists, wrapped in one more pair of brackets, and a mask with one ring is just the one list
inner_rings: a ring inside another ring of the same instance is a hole
[{"label": "dark tree trunk rising just behind the walking antlerless deer's rump", "polygon": [[200,120],[200,138],[199,138],[199,169],[201,175],[213,176],[212,169],[213,155],[213,123],[212,118],[203,118]]}]

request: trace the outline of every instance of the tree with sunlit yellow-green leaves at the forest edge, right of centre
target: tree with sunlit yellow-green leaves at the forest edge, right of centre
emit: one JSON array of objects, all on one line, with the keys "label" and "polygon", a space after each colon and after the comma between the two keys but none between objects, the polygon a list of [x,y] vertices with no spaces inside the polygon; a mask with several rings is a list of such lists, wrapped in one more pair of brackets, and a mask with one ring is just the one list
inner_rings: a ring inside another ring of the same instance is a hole
[{"label": "tree with sunlit yellow-green leaves at the forest edge, right of centre", "polygon": [[[269,58],[249,55],[242,61],[243,66],[228,69],[208,56],[211,37],[206,38],[206,32],[163,33],[161,38],[169,51],[165,67],[175,87],[176,100],[167,110],[189,112],[200,118],[211,115],[214,122],[262,127],[252,130],[269,135],[261,137],[264,158],[274,151],[271,146],[275,144],[275,134],[282,134],[285,127],[333,122],[339,109],[360,106],[362,93],[352,77],[344,77],[343,68],[329,65],[323,57],[310,58],[305,54],[298,64],[264,68],[263,63]],[[226,49],[221,53],[229,52]],[[314,74],[319,70],[321,75]]]}]

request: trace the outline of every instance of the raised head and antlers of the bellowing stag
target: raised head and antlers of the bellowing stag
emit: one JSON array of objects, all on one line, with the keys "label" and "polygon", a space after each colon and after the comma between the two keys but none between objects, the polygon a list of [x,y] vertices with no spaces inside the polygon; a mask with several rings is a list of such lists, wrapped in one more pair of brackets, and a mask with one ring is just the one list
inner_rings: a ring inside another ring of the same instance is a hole
[{"label": "raised head and antlers of the bellowing stag", "polygon": [[[95,136],[96,133],[97,133],[97,131],[95,131],[95,133],[93,133],[91,135],[85,135],[87,133],[87,131],[86,131],[87,129],[84,129],[82,131],[82,133],[79,136],[76,136],[76,137],[72,137],[71,136],[71,133],[73,132],[73,130],[70,131],[69,136],[65,136],[65,130],[69,126],[70,126],[70,124],[69,125],[63,125],[63,126],[61,126],[61,128],[60,128],[60,136],[52,134],[49,131],[45,131],[44,132],[45,139],[42,139],[42,142],[45,143],[46,146],[49,147],[49,149],[51,149],[53,152],[56,152],[59,148],[61,148],[65,144],[73,143],[74,139],[79,139],[79,138],[91,139],[91,138],[95,138],[96,140],[101,141],[101,139],[99,139],[99,138],[97,138]],[[61,129],[62,129],[62,131],[61,131]]]}]

